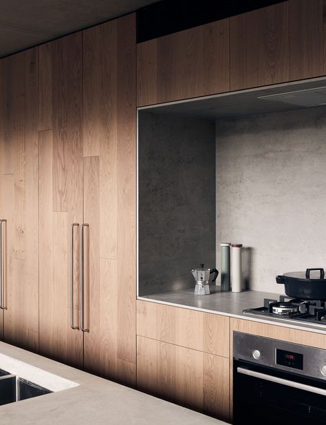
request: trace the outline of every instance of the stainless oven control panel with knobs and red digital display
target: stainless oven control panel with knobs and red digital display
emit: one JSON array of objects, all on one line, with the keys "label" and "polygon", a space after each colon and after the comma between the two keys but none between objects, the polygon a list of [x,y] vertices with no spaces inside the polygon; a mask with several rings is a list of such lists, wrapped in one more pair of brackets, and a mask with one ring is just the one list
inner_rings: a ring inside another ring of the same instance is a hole
[{"label": "stainless oven control panel with knobs and red digital display", "polygon": [[234,332],[233,357],[326,380],[326,350],[312,346]]}]

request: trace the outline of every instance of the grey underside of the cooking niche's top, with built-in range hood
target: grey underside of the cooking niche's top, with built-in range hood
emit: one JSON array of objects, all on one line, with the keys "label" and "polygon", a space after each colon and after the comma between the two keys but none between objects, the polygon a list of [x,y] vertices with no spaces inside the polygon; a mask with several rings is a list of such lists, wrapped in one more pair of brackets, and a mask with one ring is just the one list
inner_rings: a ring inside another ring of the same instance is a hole
[{"label": "grey underside of the cooking niche's top, with built-in range hood", "polygon": [[326,106],[326,77],[139,107],[138,110],[202,118],[240,118]]}]

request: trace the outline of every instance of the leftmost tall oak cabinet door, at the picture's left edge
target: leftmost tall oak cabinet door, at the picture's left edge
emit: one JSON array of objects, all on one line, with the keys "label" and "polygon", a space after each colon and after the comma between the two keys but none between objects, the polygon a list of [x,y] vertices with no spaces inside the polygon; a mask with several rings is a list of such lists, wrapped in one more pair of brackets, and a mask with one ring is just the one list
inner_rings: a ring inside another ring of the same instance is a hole
[{"label": "leftmost tall oak cabinet door, at the picture's left edge", "polygon": [[7,220],[4,340],[39,348],[38,50],[2,62],[1,214]]}]

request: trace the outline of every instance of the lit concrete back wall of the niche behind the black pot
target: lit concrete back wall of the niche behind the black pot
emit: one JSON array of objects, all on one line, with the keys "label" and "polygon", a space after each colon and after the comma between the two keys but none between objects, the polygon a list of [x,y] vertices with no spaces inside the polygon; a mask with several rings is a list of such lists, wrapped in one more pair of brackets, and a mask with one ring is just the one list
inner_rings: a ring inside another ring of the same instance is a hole
[{"label": "lit concrete back wall of the niche behind the black pot", "polygon": [[326,267],[326,108],[217,121],[219,242],[240,242],[250,289]]}]

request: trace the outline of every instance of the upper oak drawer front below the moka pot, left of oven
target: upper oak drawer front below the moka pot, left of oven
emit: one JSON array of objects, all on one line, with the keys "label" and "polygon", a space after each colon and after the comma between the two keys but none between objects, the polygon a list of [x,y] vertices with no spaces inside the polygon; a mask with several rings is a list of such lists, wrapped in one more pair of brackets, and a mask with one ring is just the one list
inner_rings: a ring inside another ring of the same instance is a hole
[{"label": "upper oak drawer front below the moka pot, left of oven", "polygon": [[229,321],[222,315],[137,302],[138,335],[223,357],[229,357]]}]

